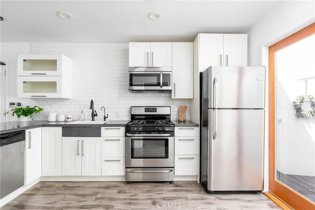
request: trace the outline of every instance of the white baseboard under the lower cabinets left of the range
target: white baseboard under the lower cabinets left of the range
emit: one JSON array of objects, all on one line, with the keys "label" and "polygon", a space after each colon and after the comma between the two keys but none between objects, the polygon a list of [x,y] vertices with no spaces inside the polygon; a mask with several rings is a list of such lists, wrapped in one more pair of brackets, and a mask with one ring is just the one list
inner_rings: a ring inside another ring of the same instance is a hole
[{"label": "white baseboard under the lower cabinets left of the range", "polygon": [[62,176],[41,177],[40,181],[125,181],[125,176]]}]

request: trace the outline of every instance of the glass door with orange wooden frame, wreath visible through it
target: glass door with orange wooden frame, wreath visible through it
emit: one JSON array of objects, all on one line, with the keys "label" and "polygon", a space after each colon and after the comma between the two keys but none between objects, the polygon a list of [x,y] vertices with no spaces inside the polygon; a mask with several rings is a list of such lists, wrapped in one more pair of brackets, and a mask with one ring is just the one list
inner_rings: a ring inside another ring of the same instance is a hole
[{"label": "glass door with orange wooden frame, wreath visible through it", "polygon": [[269,189],[315,209],[315,24],[269,48]]}]

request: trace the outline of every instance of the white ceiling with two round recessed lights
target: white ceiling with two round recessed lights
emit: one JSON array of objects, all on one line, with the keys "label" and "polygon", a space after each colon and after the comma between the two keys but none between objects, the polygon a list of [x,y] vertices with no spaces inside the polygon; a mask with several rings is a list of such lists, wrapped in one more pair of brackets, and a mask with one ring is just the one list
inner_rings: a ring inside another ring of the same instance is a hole
[{"label": "white ceiling with two round recessed lights", "polygon": [[[242,33],[281,1],[1,0],[1,42],[192,41],[197,33]],[[74,18],[64,20],[57,11]],[[162,18],[149,20],[148,12]]]}]

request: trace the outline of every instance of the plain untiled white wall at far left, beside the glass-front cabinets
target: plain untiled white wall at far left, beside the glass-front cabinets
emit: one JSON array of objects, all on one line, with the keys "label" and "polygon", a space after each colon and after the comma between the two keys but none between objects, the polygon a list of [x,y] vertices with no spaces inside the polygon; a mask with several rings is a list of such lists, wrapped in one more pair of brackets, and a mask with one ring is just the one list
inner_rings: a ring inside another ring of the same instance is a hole
[{"label": "plain untiled white wall at far left, beside the glass-front cabinets", "polygon": [[[6,62],[6,105],[5,110],[9,109],[9,101],[22,102],[25,106],[30,105],[30,100],[25,98],[17,98],[16,77],[17,77],[17,55],[30,54],[31,44],[29,42],[19,43],[1,43],[1,57],[0,60]],[[1,94],[1,98],[2,98]],[[1,108],[2,110],[2,108]],[[0,113],[2,115],[2,113]],[[7,116],[5,121],[16,121],[16,117]]]}]

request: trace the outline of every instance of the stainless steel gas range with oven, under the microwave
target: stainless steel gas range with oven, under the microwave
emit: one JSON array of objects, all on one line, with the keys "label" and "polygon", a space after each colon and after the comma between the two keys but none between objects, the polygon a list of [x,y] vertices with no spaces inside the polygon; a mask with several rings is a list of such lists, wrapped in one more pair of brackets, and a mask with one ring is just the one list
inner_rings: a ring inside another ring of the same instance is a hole
[{"label": "stainless steel gas range with oven, under the microwave", "polygon": [[126,124],[126,181],[174,181],[171,108],[131,107]]}]

